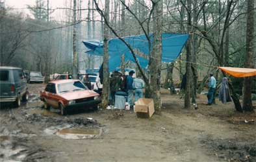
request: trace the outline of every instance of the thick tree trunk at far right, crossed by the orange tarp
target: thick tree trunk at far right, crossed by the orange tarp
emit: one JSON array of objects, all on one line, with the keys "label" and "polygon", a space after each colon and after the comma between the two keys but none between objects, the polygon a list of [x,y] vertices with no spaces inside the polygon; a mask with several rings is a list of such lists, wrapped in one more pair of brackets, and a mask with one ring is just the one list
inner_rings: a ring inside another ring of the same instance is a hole
[{"label": "thick tree trunk at far right, crossed by the orange tarp", "polygon": [[[253,68],[253,32],[254,32],[254,0],[248,0],[247,34],[246,34],[246,61],[244,67]],[[253,111],[251,102],[252,77],[245,77],[243,84],[242,108],[245,111]]]}]

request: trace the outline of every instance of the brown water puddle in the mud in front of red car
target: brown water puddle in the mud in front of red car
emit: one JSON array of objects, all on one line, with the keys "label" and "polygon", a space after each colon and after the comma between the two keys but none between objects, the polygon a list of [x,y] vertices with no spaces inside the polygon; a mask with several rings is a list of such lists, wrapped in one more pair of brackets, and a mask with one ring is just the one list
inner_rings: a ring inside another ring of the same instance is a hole
[{"label": "brown water puddle in the mud in front of red car", "polygon": [[79,134],[79,135],[99,135],[100,130],[96,128],[78,129],[78,128],[65,128],[58,131],[59,134]]}]

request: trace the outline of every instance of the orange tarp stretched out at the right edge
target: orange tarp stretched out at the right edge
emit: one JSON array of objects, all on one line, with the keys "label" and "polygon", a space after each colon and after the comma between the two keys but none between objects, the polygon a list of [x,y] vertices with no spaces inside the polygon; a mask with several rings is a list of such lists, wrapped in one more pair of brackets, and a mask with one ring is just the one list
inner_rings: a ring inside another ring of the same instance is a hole
[{"label": "orange tarp stretched out at the right edge", "polygon": [[256,69],[239,68],[239,67],[219,67],[219,69],[237,78],[256,76]]}]

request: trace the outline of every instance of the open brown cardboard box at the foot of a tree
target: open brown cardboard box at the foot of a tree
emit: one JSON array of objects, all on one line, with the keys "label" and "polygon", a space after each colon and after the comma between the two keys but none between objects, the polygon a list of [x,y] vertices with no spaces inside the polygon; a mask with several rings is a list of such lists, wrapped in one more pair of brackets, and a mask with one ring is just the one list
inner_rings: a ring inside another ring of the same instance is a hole
[{"label": "open brown cardboard box at the foot of a tree", "polygon": [[151,117],[155,112],[153,98],[140,98],[135,102],[134,112],[137,117]]}]

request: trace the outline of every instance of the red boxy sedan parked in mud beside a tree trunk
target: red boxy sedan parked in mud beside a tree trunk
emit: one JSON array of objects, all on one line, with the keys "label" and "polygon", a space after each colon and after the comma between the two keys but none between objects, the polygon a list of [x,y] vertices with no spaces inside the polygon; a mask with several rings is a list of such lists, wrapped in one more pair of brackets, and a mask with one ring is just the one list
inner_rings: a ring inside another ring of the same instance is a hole
[{"label": "red boxy sedan parked in mud beside a tree trunk", "polygon": [[66,115],[70,108],[97,108],[101,102],[99,94],[89,90],[80,80],[55,80],[47,84],[40,92],[40,99],[44,101],[44,108],[60,109]]}]

